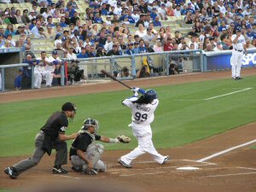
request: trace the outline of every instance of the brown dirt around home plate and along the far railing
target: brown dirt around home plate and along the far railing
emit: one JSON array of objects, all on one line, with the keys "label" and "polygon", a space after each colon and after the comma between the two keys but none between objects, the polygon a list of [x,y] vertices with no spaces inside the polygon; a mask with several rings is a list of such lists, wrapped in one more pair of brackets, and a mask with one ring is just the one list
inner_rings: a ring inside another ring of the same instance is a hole
[{"label": "brown dirt around home plate and along the far railing", "polygon": [[[248,75],[255,75],[256,68],[243,69],[241,73],[246,78]],[[131,86],[149,87],[160,84],[182,84],[212,79],[226,79],[228,77],[230,77],[230,71],[221,71],[137,79],[127,81],[127,84]],[[234,81],[234,83],[236,82]],[[122,85],[111,82],[42,90],[23,90],[0,94],[0,102],[25,101],[42,97],[70,96],[125,89]],[[230,152],[224,154],[217,155],[216,153],[255,140],[255,127],[256,122],[182,147],[159,149],[161,154],[169,154],[172,158],[165,165],[157,165],[151,161],[148,155],[143,155],[134,162],[132,169],[125,169],[119,166],[117,160],[119,156],[128,151],[106,151],[103,154],[103,161],[107,163],[108,171],[100,172],[97,176],[93,177],[82,176],[73,171],[70,171],[65,176],[53,175],[50,173],[50,167],[54,163],[54,155],[51,157],[45,155],[38,166],[23,173],[16,180],[9,179],[3,172],[0,172],[0,189],[18,189],[31,183],[49,180],[63,182],[89,181],[93,183],[96,182],[96,178],[100,178],[102,181],[113,185],[132,185],[149,192],[253,192],[256,191],[256,149],[252,149],[250,146],[255,145],[255,143],[230,150]],[[210,155],[212,154],[215,154],[215,156],[213,155],[211,158]],[[26,157],[1,158],[0,169],[3,170],[4,167],[12,165],[24,158]],[[177,167],[180,166],[195,166],[200,169],[197,171],[177,171]],[[71,169],[70,164],[66,167],[69,170]]]}]

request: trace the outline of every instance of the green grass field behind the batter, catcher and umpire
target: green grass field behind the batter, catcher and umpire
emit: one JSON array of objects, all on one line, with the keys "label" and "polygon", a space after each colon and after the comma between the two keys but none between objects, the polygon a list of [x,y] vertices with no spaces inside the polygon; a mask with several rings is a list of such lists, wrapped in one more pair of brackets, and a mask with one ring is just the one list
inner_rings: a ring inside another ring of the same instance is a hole
[{"label": "green grass field behind the batter, catcher and umpire", "polygon": [[[200,100],[247,87],[253,89],[209,101]],[[149,84],[144,88],[149,88]],[[160,98],[152,124],[156,148],[193,143],[256,120],[255,76],[241,81],[222,79],[150,88],[154,88]],[[127,96],[131,96],[130,90],[0,104],[0,156],[32,154],[38,130],[49,115],[67,101],[78,107],[67,134],[79,131],[83,120],[93,117],[100,121],[99,134],[108,137],[126,134],[132,138],[131,144],[104,143],[105,148],[134,148],[137,142],[127,126],[131,123],[131,110],[120,104]]]}]

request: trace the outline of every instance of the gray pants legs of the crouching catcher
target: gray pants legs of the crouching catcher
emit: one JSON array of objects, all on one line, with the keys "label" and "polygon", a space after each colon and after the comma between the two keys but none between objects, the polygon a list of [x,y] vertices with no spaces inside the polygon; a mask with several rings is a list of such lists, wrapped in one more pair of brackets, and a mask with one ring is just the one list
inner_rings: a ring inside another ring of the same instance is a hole
[{"label": "gray pants legs of the crouching catcher", "polygon": [[[93,168],[97,171],[100,172],[105,172],[106,171],[106,165],[102,160],[100,160],[102,154],[104,151],[104,147],[102,144],[90,144],[89,147],[87,148],[86,152],[84,154],[86,155],[87,158],[89,158],[92,161],[92,164],[94,165]],[[76,169],[86,169],[88,166],[82,160],[79,155],[72,155],[70,157],[72,165]]]}]

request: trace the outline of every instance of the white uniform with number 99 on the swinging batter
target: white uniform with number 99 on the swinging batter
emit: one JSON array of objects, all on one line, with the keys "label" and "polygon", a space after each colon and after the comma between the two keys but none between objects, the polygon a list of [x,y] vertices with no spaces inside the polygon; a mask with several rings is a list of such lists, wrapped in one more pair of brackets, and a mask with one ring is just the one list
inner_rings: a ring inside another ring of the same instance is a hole
[{"label": "white uniform with number 99 on the swinging batter", "polygon": [[129,154],[125,154],[120,158],[126,164],[130,165],[131,161],[136,159],[138,156],[148,153],[151,154],[153,159],[162,164],[165,157],[159,154],[154,148],[152,142],[152,131],[150,124],[154,120],[154,110],[159,104],[158,99],[154,99],[153,102],[148,104],[133,103],[137,100],[137,93],[135,96],[125,99],[123,105],[131,108],[131,126],[133,135],[137,137],[138,146],[134,148]]}]

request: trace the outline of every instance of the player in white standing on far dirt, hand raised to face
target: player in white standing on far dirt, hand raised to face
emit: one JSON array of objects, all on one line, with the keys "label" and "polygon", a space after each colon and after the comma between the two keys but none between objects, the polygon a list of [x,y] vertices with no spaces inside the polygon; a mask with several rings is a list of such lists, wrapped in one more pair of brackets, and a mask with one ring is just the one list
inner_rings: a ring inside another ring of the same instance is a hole
[{"label": "player in white standing on far dirt, hand raised to face", "polygon": [[238,27],[236,30],[236,34],[232,35],[232,44],[233,44],[233,51],[232,51],[232,79],[241,79],[241,61],[243,57],[243,52],[246,52],[247,55],[247,48],[246,48],[246,41],[244,36],[241,34],[241,27]]}]

